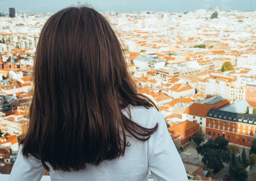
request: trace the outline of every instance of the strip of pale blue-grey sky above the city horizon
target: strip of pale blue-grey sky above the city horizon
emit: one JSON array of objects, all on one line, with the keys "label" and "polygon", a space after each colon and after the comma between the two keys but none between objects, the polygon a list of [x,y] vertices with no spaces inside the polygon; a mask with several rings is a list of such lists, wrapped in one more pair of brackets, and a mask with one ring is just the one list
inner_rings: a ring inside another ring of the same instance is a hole
[{"label": "strip of pale blue-grey sky above the city horizon", "polygon": [[[13,7],[18,12],[55,13],[70,5],[77,5],[78,0],[0,0],[0,12],[7,12]],[[256,0],[80,0],[81,4],[91,4],[97,11],[139,12],[169,11],[186,12],[197,9],[220,11],[242,10],[256,11]]]}]

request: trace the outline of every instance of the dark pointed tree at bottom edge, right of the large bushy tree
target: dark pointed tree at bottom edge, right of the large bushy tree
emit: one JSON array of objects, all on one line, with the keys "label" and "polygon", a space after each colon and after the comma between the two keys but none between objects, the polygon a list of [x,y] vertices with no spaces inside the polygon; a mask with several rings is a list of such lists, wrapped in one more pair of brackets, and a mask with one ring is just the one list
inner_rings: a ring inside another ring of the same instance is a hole
[{"label": "dark pointed tree at bottom edge, right of the large bushy tree", "polygon": [[247,171],[242,164],[239,163],[234,153],[231,155],[229,163],[229,180],[230,181],[245,181],[247,180]]}]

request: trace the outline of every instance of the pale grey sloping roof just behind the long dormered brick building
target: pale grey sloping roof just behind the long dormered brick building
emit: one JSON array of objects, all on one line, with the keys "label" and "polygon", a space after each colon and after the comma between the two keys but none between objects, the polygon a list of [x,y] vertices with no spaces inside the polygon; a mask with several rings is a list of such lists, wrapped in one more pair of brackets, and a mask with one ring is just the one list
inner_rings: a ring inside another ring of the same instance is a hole
[{"label": "pale grey sloping roof just behind the long dormered brick building", "polygon": [[219,110],[229,111],[232,113],[243,113],[245,110],[247,110],[248,107],[250,107],[250,105],[246,100],[236,99],[234,103],[222,107]]}]

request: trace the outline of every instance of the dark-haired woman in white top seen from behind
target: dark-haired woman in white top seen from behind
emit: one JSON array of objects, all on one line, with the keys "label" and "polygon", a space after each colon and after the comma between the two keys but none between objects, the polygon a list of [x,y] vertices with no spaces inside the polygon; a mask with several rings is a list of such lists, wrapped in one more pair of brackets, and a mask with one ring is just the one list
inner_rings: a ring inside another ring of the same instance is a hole
[{"label": "dark-haired woman in white top seen from behind", "polygon": [[117,36],[89,7],[42,29],[29,127],[9,180],[187,180],[163,116],[137,93]]}]

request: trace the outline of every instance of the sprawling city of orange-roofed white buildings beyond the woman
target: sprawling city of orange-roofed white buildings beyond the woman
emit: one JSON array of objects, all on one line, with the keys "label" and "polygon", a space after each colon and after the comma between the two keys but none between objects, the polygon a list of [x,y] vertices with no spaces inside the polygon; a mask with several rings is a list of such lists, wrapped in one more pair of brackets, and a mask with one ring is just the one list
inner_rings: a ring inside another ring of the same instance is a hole
[{"label": "sprawling city of orange-roofed white buildings beyond the woman", "polygon": [[[39,34],[52,13],[1,11],[0,173],[9,174],[29,123]],[[188,179],[255,181],[256,11],[101,13],[138,91],[164,116]]]}]

